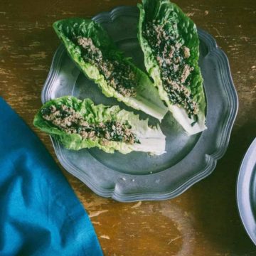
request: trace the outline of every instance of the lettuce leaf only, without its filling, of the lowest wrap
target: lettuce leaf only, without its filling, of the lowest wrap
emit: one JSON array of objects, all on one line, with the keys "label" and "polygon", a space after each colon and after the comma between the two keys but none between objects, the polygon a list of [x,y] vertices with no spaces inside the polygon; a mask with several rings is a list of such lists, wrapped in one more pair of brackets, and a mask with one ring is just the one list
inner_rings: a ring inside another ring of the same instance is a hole
[{"label": "lettuce leaf only, without its filling, of the lowest wrap", "polygon": [[[61,105],[72,107],[75,112],[81,114],[90,124],[105,123],[110,120],[124,124],[128,121],[132,133],[139,139],[139,142],[128,144],[125,142],[110,141],[107,144],[102,144],[102,139],[99,137],[95,139],[83,139],[80,134],[68,134],[63,129],[55,127],[43,118],[41,110],[52,105],[55,107],[60,107]],[[33,124],[43,132],[58,139],[67,149],[79,150],[97,146],[107,153],[114,153],[117,150],[122,154],[127,154],[131,151],[142,151],[160,155],[165,152],[165,136],[161,132],[159,125],[151,128],[148,125],[148,119],[140,120],[139,115],[126,110],[120,110],[119,106],[107,107],[105,105],[94,105],[90,99],[78,100],[76,97],[64,96],[46,102],[41,107],[41,110],[36,114]]]}]

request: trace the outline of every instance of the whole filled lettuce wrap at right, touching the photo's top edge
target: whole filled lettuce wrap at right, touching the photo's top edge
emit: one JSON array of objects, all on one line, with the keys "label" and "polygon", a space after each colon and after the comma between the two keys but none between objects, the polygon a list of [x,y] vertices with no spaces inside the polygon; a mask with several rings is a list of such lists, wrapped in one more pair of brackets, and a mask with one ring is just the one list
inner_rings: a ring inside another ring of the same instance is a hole
[{"label": "whole filled lettuce wrap at right, touching the photo's top edge", "polygon": [[[188,134],[203,131],[206,129],[206,100],[198,66],[199,40],[196,25],[169,0],[142,0],[138,7],[139,43],[144,52],[146,70],[153,78],[161,99]],[[151,29],[155,29],[155,37]],[[165,54],[164,51],[169,54],[169,60],[159,57]],[[166,80],[169,84],[164,82]],[[183,95],[180,92],[181,86]],[[188,94],[188,97],[184,96]]]}]

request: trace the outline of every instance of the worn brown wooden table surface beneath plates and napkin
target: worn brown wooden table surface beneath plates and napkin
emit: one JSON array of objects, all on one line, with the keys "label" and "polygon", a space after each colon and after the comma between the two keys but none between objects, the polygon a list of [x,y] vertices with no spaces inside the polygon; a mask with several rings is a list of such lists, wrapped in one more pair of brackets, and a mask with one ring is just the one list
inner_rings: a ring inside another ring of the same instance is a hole
[{"label": "worn brown wooden table surface beneath plates and napkin", "polygon": [[[114,6],[136,3],[1,0],[0,95],[38,134],[54,158],[48,135],[32,124],[60,43],[51,28],[53,21],[70,16],[89,18]],[[177,4],[227,53],[240,99],[228,151],[213,174],[172,200],[118,203],[96,196],[63,172],[90,214],[105,255],[256,255],[235,201],[240,161],[256,135],[256,1],[180,0]]]}]

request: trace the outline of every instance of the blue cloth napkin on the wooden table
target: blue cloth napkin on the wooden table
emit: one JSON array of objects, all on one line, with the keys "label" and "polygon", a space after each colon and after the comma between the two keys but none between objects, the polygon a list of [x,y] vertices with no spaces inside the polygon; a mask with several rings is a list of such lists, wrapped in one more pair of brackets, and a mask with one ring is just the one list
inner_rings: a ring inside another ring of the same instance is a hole
[{"label": "blue cloth napkin on the wooden table", "polygon": [[0,97],[0,255],[102,255],[85,209],[38,137]]}]

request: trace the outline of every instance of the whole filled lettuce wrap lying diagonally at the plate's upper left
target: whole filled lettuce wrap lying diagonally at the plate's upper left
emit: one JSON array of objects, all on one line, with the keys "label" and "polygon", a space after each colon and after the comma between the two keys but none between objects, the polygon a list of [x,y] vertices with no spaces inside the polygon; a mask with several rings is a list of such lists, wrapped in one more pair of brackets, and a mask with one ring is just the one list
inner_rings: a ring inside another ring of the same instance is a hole
[{"label": "whole filled lettuce wrap lying diagonally at the plate's upper left", "polygon": [[159,120],[168,112],[148,76],[117,50],[99,23],[67,18],[53,23],[53,28],[70,57],[105,96]]}]

